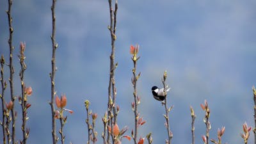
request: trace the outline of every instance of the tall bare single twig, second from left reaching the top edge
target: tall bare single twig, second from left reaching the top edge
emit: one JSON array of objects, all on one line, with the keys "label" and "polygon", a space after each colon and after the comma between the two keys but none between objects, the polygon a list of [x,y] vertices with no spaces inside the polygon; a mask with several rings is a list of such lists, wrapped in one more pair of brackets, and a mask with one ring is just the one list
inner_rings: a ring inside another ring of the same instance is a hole
[{"label": "tall bare single twig, second from left reaching the top edge", "polygon": [[51,6],[51,11],[52,11],[52,35],[51,35],[51,40],[52,40],[52,71],[50,74],[51,77],[51,112],[52,112],[52,143],[56,144],[58,141],[58,138],[56,136],[56,120],[54,118],[55,116],[55,108],[54,108],[54,95],[56,94],[55,92],[55,72],[56,72],[56,59],[55,59],[55,52],[58,47],[58,44],[55,41],[55,32],[56,32],[56,26],[55,26],[55,20],[56,20],[56,15],[55,15],[55,4],[56,0],[52,0],[52,6]]}]

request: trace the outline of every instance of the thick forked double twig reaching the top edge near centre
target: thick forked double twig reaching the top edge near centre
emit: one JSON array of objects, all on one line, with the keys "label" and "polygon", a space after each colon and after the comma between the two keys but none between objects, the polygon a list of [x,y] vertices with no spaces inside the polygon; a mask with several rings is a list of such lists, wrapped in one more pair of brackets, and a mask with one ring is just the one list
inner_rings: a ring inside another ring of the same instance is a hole
[{"label": "thick forked double twig reaching the top edge near centre", "polygon": [[[117,9],[118,9],[117,0],[115,1],[114,11],[112,7],[112,1],[109,0],[110,26],[108,26],[108,29],[111,35],[111,55],[110,55],[109,86],[108,86],[108,117],[110,118],[110,121],[108,121],[108,125],[111,127],[111,129],[113,129],[113,124],[116,124],[116,121],[117,121],[116,104],[115,104],[115,99],[116,99],[115,68],[117,67],[117,63],[115,64],[115,40],[116,40],[115,33],[116,33]],[[109,131],[108,131],[107,142],[109,143],[110,136],[112,136],[112,141],[114,143],[113,134],[109,134]]]}]

